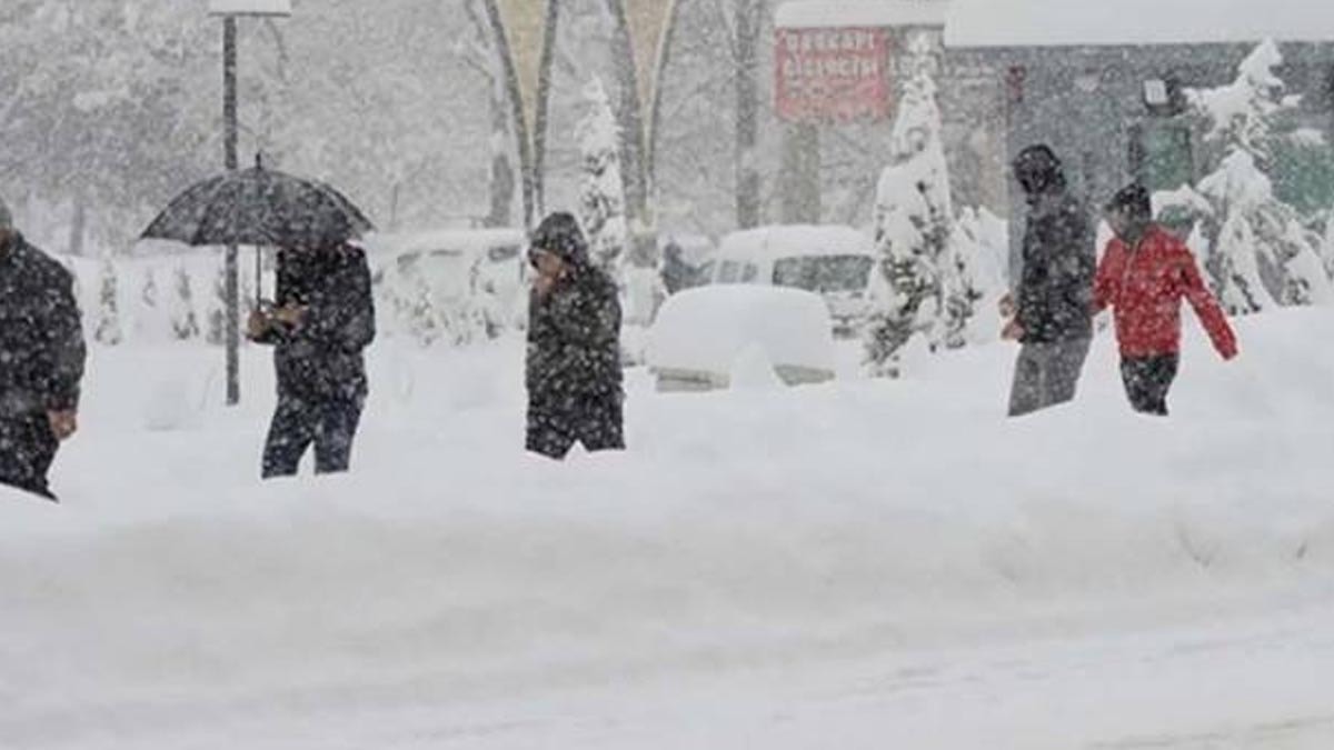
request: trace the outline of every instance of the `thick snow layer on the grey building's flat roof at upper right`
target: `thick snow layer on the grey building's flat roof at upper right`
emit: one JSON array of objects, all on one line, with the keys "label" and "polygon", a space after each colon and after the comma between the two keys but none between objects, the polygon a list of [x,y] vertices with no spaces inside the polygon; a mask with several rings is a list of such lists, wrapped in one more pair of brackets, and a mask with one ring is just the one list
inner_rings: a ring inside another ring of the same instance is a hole
[{"label": "thick snow layer on the grey building's flat roof at upper right", "polygon": [[948,47],[1334,41],[1327,0],[954,0]]}]

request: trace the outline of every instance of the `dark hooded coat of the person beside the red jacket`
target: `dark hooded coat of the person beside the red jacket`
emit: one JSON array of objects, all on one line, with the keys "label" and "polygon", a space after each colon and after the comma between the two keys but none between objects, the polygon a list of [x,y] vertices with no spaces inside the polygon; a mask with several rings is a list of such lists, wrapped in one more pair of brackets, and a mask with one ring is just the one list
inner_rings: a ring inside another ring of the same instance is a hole
[{"label": "dark hooded coat of the person beside the red jacket", "polygon": [[1093,336],[1097,238],[1083,204],[1054,179],[1029,196],[1023,270],[1015,295],[1023,343],[1058,343]]}]

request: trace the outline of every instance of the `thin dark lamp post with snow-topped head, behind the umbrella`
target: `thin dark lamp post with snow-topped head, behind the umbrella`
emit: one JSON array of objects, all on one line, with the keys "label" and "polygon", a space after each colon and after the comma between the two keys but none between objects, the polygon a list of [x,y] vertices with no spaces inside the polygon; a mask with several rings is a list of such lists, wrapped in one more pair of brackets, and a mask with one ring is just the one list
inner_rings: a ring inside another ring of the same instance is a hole
[{"label": "thin dark lamp post with snow-topped head, behind the umbrella", "polygon": [[[237,168],[236,157],[236,17],[281,17],[292,15],[292,0],[209,0],[208,15],[223,19],[223,157],[228,172]],[[240,284],[236,246],[227,247],[224,304],[227,331],[227,406],[241,400],[240,367]]]}]

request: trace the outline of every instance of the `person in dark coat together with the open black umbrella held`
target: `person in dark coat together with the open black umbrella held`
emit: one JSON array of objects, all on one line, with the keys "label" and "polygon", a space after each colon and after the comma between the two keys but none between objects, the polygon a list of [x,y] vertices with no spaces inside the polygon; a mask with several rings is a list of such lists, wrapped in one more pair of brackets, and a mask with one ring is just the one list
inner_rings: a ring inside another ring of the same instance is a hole
[{"label": "person in dark coat together with the open black umbrella held", "polygon": [[[268,169],[256,155],[251,169],[191,185],[143,234],[189,246],[279,248],[275,303],[259,303],[245,331],[275,347],[277,408],[264,446],[265,479],[295,475],[311,444],[316,472],[348,468],[368,391],[362,352],[375,339],[371,271],[351,240],[372,230],[331,185]],[[257,260],[256,252],[256,274]],[[236,348],[229,343],[229,378]]]}]

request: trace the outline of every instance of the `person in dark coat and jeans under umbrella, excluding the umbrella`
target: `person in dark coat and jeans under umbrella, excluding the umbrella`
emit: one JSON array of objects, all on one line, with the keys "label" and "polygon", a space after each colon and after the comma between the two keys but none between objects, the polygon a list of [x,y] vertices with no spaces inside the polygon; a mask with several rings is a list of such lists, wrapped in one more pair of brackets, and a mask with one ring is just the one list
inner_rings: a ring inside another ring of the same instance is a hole
[{"label": "person in dark coat and jeans under umbrella, excluding the umbrella", "polygon": [[375,340],[366,251],[284,248],[273,307],[251,314],[249,338],[273,344],[277,408],[263,475],[292,476],[313,443],[317,474],[347,471],[368,392],[363,350]]}]

